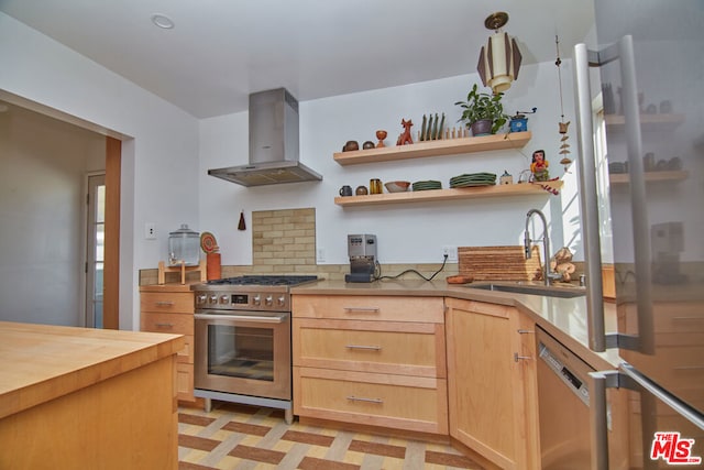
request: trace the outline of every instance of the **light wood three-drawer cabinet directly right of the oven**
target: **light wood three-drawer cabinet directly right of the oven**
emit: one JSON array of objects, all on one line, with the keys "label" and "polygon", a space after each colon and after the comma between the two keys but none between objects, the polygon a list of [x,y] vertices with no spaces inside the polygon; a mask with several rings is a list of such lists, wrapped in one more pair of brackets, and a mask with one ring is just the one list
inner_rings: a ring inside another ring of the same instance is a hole
[{"label": "light wood three-drawer cabinet directly right of the oven", "polygon": [[294,413],[448,434],[442,297],[294,295]]}]

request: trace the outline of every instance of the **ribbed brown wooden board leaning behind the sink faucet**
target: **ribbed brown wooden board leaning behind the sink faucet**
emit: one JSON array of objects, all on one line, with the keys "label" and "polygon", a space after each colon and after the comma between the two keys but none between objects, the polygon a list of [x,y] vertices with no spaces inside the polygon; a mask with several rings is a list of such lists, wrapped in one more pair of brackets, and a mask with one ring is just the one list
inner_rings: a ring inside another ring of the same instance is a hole
[{"label": "ribbed brown wooden board leaning behind the sink faucet", "polygon": [[542,278],[540,248],[534,245],[532,256],[526,260],[522,245],[459,247],[461,275],[474,281],[537,281]]}]

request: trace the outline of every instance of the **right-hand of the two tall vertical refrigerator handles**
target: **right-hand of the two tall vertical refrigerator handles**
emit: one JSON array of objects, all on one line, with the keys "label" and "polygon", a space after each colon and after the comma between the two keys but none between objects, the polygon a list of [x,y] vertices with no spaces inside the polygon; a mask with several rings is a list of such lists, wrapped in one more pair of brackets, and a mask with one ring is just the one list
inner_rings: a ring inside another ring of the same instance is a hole
[{"label": "right-hand of the two tall vertical refrigerator handles", "polygon": [[640,135],[640,106],[636,83],[636,61],[632,36],[618,41],[622,74],[622,97],[626,123],[628,173],[630,179],[630,211],[632,219],[634,271],[636,276],[636,306],[638,310],[638,339],[636,349],[646,354],[654,353],[652,325],[650,227],[646,199],[646,174],[642,164],[642,140]]}]

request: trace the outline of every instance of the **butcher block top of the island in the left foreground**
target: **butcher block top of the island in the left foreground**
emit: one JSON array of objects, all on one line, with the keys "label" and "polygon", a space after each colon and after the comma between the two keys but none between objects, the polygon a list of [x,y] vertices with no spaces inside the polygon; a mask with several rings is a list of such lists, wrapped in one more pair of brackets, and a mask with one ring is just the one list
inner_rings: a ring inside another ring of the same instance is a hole
[{"label": "butcher block top of the island in the left foreground", "polygon": [[0,418],[175,354],[180,335],[0,321]]}]

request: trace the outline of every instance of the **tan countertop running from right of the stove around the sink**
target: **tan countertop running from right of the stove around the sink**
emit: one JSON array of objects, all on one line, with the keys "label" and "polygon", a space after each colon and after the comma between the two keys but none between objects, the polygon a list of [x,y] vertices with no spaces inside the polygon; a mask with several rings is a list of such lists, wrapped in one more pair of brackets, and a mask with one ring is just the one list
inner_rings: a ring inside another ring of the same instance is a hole
[{"label": "tan countertop running from right of the stove around the sink", "polygon": [[[559,298],[540,295],[470,288],[468,285],[448,284],[441,281],[392,280],[373,283],[345,283],[343,281],[319,281],[292,288],[292,294],[321,295],[402,295],[439,296],[464,298],[510,305],[530,316],[537,325],[548,331],[595,370],[615,369],[623,360],[618,350],[594,352],[588,348],[586,298]],[[569,288],[569,287],[566,287]],[[616,306],[604,304],[606,331],[616,330]]]}]

